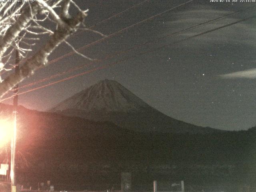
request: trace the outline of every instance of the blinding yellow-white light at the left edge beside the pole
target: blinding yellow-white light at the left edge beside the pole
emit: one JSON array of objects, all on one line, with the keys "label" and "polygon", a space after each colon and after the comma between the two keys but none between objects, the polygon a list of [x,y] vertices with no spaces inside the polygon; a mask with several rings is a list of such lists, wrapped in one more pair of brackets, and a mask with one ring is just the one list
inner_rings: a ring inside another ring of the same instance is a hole
[{"label": "blinding yellow-white light at the left edge beside the pole", "polygon": [[12,129],[12,123],[10,121],[0,119],[0,147],[11,140]]}]

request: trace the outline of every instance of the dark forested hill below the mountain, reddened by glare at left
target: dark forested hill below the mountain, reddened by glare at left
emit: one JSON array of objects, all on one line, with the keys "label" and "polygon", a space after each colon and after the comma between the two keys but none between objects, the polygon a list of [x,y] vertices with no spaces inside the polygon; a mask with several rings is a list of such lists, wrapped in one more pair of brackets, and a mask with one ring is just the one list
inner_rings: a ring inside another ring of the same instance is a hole
[{"label": "dark forested hill below the mountain, reddened by glare at left", "polygon": [[[10,118],[10,106],[1,104],[0,109]],[[118,184],[122,171],[149,180],[191,182],[195,175],[198,181],[254,181],[256,172],[255,128],[212,134],[135,132],[111,122],[19,107],[17,150],[20,182],[47,178],[63,184],[78,177],[78,189],[85,181],[91,187],[96,187],[95,181]],[[5,149],[1,154],[4,162]]]}]

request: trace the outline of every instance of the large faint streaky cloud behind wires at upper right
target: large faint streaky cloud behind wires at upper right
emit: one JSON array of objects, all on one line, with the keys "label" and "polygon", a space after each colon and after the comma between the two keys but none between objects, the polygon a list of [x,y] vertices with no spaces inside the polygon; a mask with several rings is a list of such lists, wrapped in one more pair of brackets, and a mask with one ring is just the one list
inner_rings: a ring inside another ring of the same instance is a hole
[{"label": "large faint streaky cloud behind wires at upper right", "polygon": [[[168,31],[166,33],[170,33],[170,31],[175,32],[184,30],[189,26],[207,22],[214,18],[218,18],[231,13],[231,11],[214,10],[210,6],[202,6],[200,8],[194,8],[193,10],[179,12],[176,13],[176,18],[174,18],[174,20],[168,22]],[[243,18],[239,18],[239,16],[237,18],[234,18],[233,16],[227,16],[222,20],[212,22],[210,24],[204,25],[203,27],[201,26],[193,30],[182,32],[179,36],[180,38],[187,38],[188,36],[200,34],[202,32],[230,24],[241,19]],[[167,41],[172,39],[173,37],[166,38]],[[256,47],[256,43],[252,43],[256,42],[255,27],[252,26],[252,24],[248,24],[247,22],[240,22],[232,26],[210,32],[208,34],[198,36],[194,38],[194,40],[196,42],[194,46],[200,46],[200,44],[206,44],[210,46],[211,44],[223,44],[223,42],[229,42],[229,44],[243,44]]]}]

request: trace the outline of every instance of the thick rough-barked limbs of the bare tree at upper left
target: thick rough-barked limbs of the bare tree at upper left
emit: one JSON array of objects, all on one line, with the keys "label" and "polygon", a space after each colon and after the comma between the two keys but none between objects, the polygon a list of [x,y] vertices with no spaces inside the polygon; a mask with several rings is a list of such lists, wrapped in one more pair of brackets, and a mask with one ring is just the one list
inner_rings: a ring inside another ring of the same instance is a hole
[{"label": "thick rough-barked limbs of the bare tree at upper left", "polygon": [[[16,84],[34,74],[34,71],[37,68],[45,66],[48,62],[48,56],[52,51],[74,33],[80,24],[82,24],[84,18],[87,16],[86,11],[79,11],[74,18],[70,18],[68,14],[69,4],[70,0],[63,0],[62,11],[59,16],[46,1],[38,0],[37,3],[33,3],[29,7],[26,7],[17,18],[16,22],[6,30],[5,35],[0,40],[0,58],[6,54],[6,50],[13,44],[13,42],[15,42],[22,30],[33,34],[33,32],[26,28],[31,20],[37,24],[38,28],[44,30],[44,32],[48,32],[51,35],[51,38],[38,52],[36,52],[36,54],[26,60],[17,72],[10,74],[0,83],[0,97],[4,96],[4,94],[6,94],[8,90],[11,90]],[[54,22],[57,23],[54,32],[40,26],[40,24],[34,20],[33,16],[39,11],[48,12],[49,15],[52,16]],[[19,48],[19,50],[24,51],[26,49]]]}]

